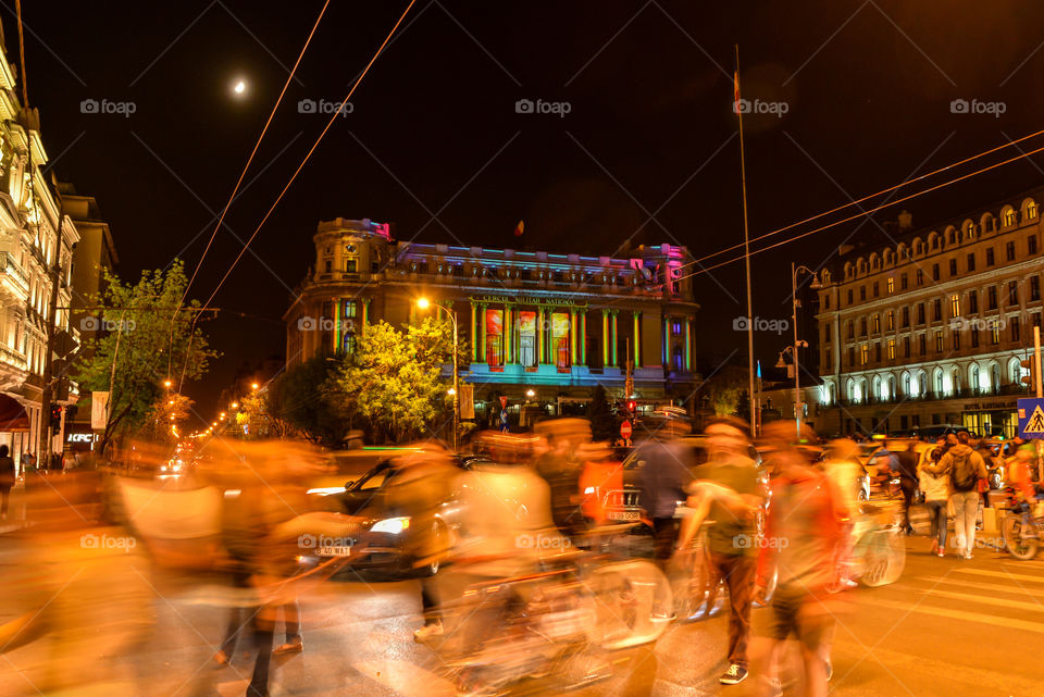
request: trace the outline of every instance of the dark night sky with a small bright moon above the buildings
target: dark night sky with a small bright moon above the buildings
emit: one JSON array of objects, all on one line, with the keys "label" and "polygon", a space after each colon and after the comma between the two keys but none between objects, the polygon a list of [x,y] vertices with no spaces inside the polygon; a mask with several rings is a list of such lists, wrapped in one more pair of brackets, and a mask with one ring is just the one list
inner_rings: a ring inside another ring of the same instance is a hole
[{"label": "dark night sky with a small bright moon above the buildings", "polygon": [[[331,2],[194,297],[210,295],[237,238],[253,232],[325,125],[327,116],[299,113],[299,100],[343,99],[406,4]],[[612,253],[631,238],[700,256],[742,241],[734,43],[744,98],[786,109],[744,119],[751,236],[1044,127],[1041,3],[724,4],[418,0],[352,112],[337,119],[215,299],[250,316],[208,324],[224,356],[190,390],[202,414],[244,361],[282,354],[279,316],[320,220],[393,222],[403,240],[559,252]],[[14,2],[0,5],[16,63]],[[124,277],[175,257],[197,263],[321,7],[64,2],[59,11],[24,0],[29,101],[45,145],[58,175],[98,198]],[[248,90],[236,99],[239,78]],[[134,102],[135,112],[85,114],[84,99]],[[569,113],[515,113],[520,99],[568,102]],[[1002,102],[1004,113],[955,114],[955,99]],[[916,227],[929,225],[1040,185],[1042,164],[1024,160],[899,208]],[[755,314],[788,315],[792,260],[819,266],[897,213],[756,257]],[[512,237],[520,219],[522,239]],[[739,347],[743,362],[746,338],[732,329],[745,313],[743,279],[742,263],[699,276],[699,353]],[[771,364],[787,339],[757,341]]]}]

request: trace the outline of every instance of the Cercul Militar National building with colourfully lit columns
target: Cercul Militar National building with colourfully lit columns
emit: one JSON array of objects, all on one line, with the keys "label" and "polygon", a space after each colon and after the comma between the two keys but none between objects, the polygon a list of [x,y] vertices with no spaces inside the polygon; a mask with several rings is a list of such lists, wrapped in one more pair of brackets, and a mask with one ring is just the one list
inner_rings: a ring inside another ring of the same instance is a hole
[{"label": "Cercul Militar National building with colourfully lit columns", "polygon": [[[366,326],[394,326],[450,308],[470,362],[476,408],[527,400],[552,407],[604,385],[624,394],[633,365],[638,399],[693,389],[694,302],[684,247],[661,245],[626,257],[583,257],[396,241],[369,220],[319,224],[315,265],[289,309],[287,365],[320,352],[351,352]],[[448,371],[447,366],[447,371]],[[533,395],[527,395],[529,391]]]}]

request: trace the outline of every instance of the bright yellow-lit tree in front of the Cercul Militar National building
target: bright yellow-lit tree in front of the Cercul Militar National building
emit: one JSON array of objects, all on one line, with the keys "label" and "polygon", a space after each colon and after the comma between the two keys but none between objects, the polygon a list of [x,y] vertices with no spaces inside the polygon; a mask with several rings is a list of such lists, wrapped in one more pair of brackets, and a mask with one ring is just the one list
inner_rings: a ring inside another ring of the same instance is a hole
[{"label": "bright yellow-lit tree in front of the Cercul Militar National building", "polygon": [[341,363],[327,383],[327,399],[357,411],[395,441],[418,435],[445,414],[442,371],[452,356],[449,331],[447,321],[431,318],[405,333],[386,322],[368,326],[355,360]]}]

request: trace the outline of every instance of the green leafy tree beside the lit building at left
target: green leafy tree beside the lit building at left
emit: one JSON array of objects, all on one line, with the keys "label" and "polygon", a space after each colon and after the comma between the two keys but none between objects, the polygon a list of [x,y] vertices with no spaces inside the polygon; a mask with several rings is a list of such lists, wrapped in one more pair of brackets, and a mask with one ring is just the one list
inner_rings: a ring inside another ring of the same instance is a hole
[{"label": "green leafy tree beside the lit building at left", "polygon": [[166,270],[145,271],[135,285],[105,272],[105,289],[88,300],[98,308],[94,322],[105,332],[91,340],[73,366],[82,390],[109,391],[101,452],[116,438],[139,431],[167,397],[164,379],[202,377],[217,356],[201,328],[194,328],[199,302],[181,304],[187,279],[175,260]]}]

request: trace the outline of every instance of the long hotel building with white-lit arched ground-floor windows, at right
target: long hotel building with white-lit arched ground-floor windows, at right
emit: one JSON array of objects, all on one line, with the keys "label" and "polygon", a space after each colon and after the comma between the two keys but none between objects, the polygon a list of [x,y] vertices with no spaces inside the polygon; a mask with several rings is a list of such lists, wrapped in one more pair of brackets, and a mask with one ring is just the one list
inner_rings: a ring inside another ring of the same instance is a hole
[{"label": "long hotel building with white-lit arched ground-floor windows, at right", "polygon": [[819,291],[823,433],[956,424],[1012,436],[1041,325],[1044,188],[843,249]]}]

